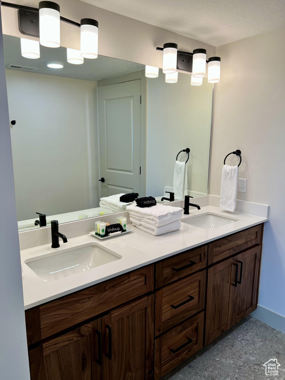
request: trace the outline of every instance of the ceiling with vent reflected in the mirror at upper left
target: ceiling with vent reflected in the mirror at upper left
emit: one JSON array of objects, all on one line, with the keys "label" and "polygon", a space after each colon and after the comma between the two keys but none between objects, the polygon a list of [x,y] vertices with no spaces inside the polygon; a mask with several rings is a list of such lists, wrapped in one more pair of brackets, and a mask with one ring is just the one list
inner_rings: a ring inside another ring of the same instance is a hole
[{"label": "ceiling with vent reflected in the mirror at upper left", "polygon": [[[41,46],[41,57],[28,59],[21,55],[20,39],[13,36],[3,36],[5,66],[9,64],[34,67],[37,74],[55,75],[65,78],[83,79],[86,81],[100,81],[101,79],[116,77],[144,68],[139,63],[123,61],[121,59],[99,55],[97,59],[85,59],[82,65],[72,65],[66,61],[66,48],[51,49]],[[63,69],[50,69],[46,63],[57,61],[64,64]]]}]

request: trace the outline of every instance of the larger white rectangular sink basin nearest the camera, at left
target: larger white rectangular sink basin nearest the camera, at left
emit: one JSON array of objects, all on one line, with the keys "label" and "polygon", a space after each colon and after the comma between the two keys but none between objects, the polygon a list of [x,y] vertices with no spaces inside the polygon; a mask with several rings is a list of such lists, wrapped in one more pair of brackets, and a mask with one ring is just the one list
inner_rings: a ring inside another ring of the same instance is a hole
[{"label": "larger white rectangular sink basin nearest the camera, at left", "polygon": [[94,243],[35,257],[26,260],[25,264],[43,281],[54,281],[86,272],[121,258],[122,256],[111,253]]}]

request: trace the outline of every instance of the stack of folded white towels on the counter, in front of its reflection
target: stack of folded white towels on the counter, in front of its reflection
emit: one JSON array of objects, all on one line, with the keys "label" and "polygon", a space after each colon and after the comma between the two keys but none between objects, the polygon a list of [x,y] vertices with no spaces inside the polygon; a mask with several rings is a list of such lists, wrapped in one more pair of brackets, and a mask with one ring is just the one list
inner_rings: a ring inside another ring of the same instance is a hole
[{"label": "stack of folded white towels on the counter, in front of its reflection", "polygon": [[181,227],[183,209],[180,207],[157,204],[141,208],[132,204],[126,209],[134,226],[154,236],[167,234]]}]

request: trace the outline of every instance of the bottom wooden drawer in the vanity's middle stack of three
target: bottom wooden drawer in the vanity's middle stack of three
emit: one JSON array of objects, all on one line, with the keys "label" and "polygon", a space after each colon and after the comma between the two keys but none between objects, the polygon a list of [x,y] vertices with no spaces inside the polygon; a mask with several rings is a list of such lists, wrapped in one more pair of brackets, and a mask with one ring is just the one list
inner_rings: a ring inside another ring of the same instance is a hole
[{"label": "bottom wooden drawer in the vanity's middle stack of three", "polygon": [[154,379],[158,380],[203,346],[204,312],[155,339]]}]

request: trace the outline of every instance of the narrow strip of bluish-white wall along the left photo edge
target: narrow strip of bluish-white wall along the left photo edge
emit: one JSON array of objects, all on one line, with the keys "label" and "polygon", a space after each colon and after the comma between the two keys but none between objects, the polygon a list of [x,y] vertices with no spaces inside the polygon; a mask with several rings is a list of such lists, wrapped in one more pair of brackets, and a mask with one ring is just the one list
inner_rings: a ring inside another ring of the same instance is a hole
[{"label": "narrow strip of bluish-white wall along the left photo edge", "polygon": [[0,20],[0,378],[29,380],[4,67]]}]

